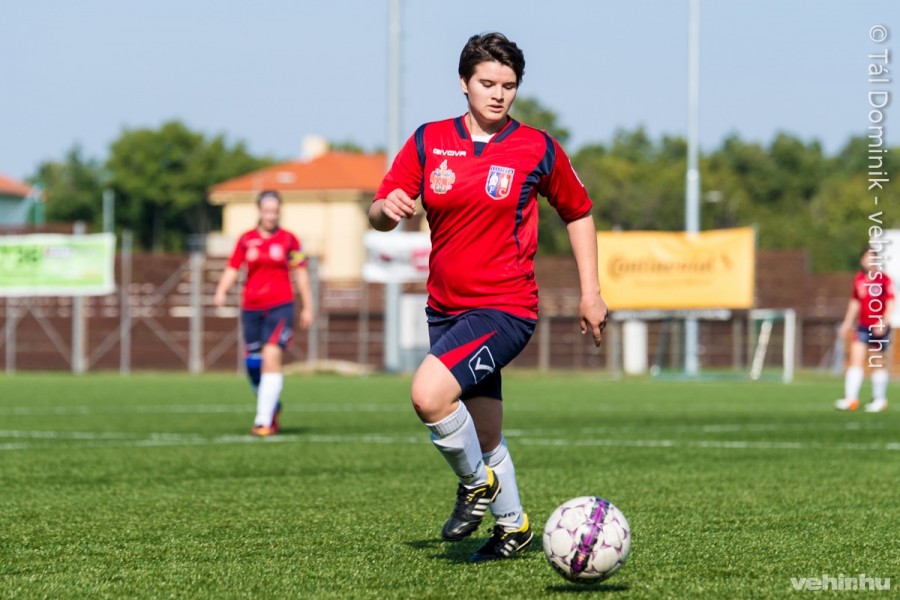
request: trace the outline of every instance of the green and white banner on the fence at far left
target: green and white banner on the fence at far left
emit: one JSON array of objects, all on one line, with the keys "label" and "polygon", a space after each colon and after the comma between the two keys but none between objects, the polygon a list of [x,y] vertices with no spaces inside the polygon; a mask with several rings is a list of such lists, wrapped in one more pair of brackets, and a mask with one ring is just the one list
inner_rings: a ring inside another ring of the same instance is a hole
[{"label": "green and white banner on the fence at far left", "polygon": [[116,238],[0,236],[0,296],[102,296],[116,289]]}]

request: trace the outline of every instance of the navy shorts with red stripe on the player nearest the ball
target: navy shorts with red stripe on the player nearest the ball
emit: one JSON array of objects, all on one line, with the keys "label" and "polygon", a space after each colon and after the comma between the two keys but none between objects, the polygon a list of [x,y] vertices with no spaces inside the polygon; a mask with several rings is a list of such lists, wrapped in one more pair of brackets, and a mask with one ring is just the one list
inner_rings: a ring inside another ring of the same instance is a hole
[{"label": "navy shorts with red stripe on the player nearest the ball", "polygon": [[475,309],[445,315],[426,308],[431,354],[450,369],[460,398],[503,399],[500,369],[528,345],[537,321],[499,310]]}]

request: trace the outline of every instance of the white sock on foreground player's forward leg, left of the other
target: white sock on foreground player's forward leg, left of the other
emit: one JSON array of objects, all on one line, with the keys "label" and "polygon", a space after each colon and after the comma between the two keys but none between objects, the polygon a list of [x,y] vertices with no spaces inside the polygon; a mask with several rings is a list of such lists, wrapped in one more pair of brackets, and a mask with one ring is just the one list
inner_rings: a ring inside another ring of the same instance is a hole
[{"label": "white sock on foreground player's forward leg, left of the other", "polygon": [[481,485],[487,482],[478,433],[465,404],[458,402],[457,409],[448,417],[437,423],[425,423],[425,426],[431,430],[431,442],[462,483]]}]

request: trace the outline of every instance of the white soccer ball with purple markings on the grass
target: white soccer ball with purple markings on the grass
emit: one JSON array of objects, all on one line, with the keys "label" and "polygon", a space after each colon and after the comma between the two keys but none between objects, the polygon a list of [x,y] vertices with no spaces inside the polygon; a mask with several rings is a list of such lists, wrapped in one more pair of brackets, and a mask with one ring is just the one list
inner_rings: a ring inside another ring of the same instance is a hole
[{"label": "white soccer ball with purple markings on the grass", "polygon": [[563,502],[544,526],[544,554],[569,581],[603,581],[625,564],[631,529],[609,500],[580,496]]}]

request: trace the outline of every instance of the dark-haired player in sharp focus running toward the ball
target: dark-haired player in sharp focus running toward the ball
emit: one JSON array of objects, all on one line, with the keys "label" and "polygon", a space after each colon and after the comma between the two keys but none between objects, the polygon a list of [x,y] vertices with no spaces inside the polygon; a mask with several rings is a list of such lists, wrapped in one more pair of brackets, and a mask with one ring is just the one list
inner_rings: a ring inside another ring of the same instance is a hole
[{"label": "dark-haired player in sharp focus running toward the ball", "polygon": [[502,34],[471,37],[459,59],[468,111],[419,127],[369,209],[372,226],[389,231],[422,197],[432,242],[431,351],[413,376],[412,403],[460,481],[443,538],[469,536],[489,506],[496,518],[473,561],[508,558],[532,539],[502,435],[500,370],[537,323],[538,193],[566,223],[581,330],[597,345],[607,316],[591,200],[556,140],[509,117],[524,71],[522,51]]}]

